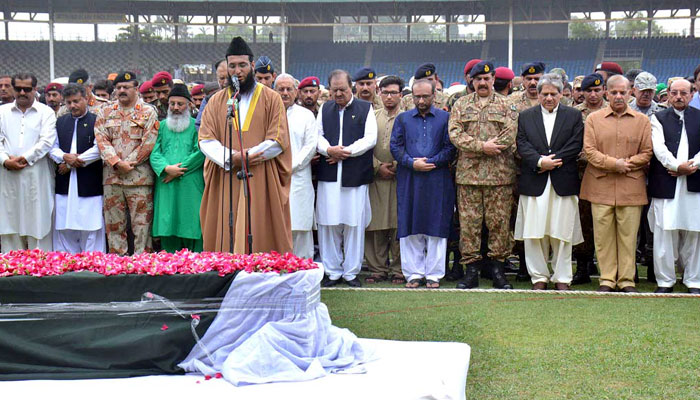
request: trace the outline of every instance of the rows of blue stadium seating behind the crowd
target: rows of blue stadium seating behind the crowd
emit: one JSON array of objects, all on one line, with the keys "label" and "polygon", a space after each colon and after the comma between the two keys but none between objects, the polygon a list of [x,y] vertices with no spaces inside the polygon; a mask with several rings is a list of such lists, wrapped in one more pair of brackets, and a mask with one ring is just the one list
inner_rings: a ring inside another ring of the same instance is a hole
[{"label": "rows of blue stadium seating behind the crowd", "polygon": [[[87,69],[93,77],[106,76],[121,69],[132,69],[150,77],[159,70],[173,71],[183,64],[211,65],[226,50],[226,43],[133,43],[133,42],[64,42],[54,45],[56,76],[67,76],[73,69]],[[269,56],[279,65],[279,43],[253,43],[257,55]],[[654,73],[659,81],[671,76],[691,75],[700,62],[700,39],[681,37],[621,39],[542,39],[517,40],[513,48],[516,74],[530,61],[543,61],[547,69],[561,67],[570,80],[590,73],[604,58],[639,63]],[[49,79],[49,45],[37,41],[0,41],[0,72],[31,71],[41,82]],[[416,67],[433,62],[438,75],[449,85],[463,81],[464,63],[471,58],[486,58],[496,65],[507,65],[508,45],[504,40],[491,41],[394,41],[342,42],[308,46],[292,42],[287,47],[287,70],[303,78],[316,75],[325,82],[336,68],[350,72],[372,65],[378,75],[394,73],[409,79]]]}]

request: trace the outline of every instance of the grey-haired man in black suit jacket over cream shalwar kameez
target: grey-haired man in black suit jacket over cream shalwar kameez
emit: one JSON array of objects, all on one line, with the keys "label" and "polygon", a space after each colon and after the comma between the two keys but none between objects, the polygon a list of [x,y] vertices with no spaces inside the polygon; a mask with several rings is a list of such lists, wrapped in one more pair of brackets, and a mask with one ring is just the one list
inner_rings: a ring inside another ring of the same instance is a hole
[{"label": "grey-haired man in black suit jacket over cream shalwar kameez", "polygon": [[[568,290],[571,248],[583,242],[576,164],[583,122],[581,112],[559,104],[563,90],[561,77],[544,75],[537,84],[540,107],[522,111],[518,120],[522,164],[515,238],[524,241],[534,290],[546,289],[548,282],[556,290]],[[547,266],[550,252],[553,273]]]}]

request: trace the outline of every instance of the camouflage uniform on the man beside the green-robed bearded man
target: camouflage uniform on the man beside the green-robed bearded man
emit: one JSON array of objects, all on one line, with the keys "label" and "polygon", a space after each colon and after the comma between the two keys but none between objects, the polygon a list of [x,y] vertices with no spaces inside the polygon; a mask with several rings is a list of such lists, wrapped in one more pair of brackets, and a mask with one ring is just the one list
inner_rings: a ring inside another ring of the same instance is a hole
[{"label": "camouflage uniform on the man beside the green-robed bearded man", "polygon": [[[105,161],[103,171],[105,230],[110,253],[127,253],[126,208],[134,232],[134,253],[151,251],[153,183],[149,156],[158,138],[159,122],[152,107],[138,100],[134,108],[119,102],[103,107],[95,121],[95,139]],[[137,164],[126,175],[117,173],[119,161]]]}]

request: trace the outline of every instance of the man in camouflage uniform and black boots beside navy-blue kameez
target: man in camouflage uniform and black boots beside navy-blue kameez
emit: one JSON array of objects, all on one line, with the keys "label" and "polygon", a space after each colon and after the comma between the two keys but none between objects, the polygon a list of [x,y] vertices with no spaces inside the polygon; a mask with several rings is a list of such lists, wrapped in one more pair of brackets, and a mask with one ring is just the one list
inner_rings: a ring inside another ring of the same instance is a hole
[{"label": "man in camouflage uniform and black boots beside navy-blue kameez", "polygon": [[504,274],[505,260],[513,248],[509,229],[512,207],[504,205],[513,203],[518,111],[493,92],[494,71],[488,61],[472,68],[476,92],[457,100],[450,116],[450,140],[459,150],[456,183],[461,262],[467,267],[464,279],[457,284],[460,289],[479,285],[483,220],[489,230],[493,286],[512,289]]}]

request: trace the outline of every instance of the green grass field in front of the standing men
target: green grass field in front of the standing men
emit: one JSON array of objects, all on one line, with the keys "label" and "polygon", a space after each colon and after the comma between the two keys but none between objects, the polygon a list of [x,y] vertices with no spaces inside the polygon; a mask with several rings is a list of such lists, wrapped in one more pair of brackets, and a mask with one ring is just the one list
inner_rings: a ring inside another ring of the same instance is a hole
[{"label": "green grass field in front of the standing men", "polygon": [[322,301],[359,337],[469,344],[468,399],[700,399],[700,298],[324,290]]}]

